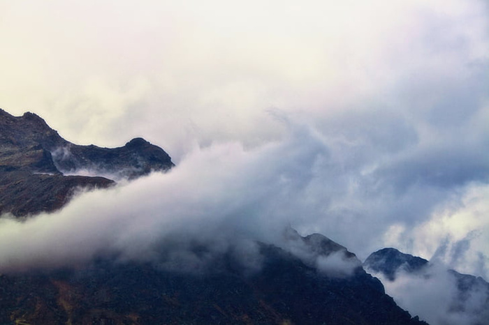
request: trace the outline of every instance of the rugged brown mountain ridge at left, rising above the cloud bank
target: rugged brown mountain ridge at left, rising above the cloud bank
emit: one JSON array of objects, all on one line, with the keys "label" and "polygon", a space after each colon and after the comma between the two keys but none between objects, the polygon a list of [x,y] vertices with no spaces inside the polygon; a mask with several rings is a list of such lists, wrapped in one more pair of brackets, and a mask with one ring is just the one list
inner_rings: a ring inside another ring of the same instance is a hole
[{"label": "rugged brown mountain ridge at left, rising above the cloud bank", "polygon": [[[0,213],[22,217],[55,211],[76,190],[112,186],[173,167],[170,156],[141,138],[115,149],[79,146],[63,139],[33,113],[0,109]],[[79,172],[102,176],[73,175]]]}]

